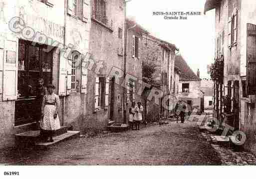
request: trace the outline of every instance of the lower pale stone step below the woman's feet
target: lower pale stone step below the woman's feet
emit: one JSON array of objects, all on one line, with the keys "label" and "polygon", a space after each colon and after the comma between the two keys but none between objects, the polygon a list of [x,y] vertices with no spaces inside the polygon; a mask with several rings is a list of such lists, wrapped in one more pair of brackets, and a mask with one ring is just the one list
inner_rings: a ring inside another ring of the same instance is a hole
[{"label": "lower pale stone step below the woman's feet", "polygon": [[64,134],[53,137],[53,142],[36,142],[35,146],[39,148],[48,148],[54,144],[57,144],[61,141],[68,140],[71,138],[76,138],[80,136],[80,131],[67,131]]}]

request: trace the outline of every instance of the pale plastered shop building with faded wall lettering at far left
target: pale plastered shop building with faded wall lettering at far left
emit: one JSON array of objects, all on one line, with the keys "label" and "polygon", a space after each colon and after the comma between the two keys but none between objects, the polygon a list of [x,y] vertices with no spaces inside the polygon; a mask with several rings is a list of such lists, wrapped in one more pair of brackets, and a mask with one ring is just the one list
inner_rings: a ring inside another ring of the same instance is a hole
[{"label": "pale plastered shop building with faded wall lettering at far left", "polygon": [[0,6],[0,148],[35,130],[38,78],[56,87],[61,125],[80,130],[87,70],[77,59],[89,50],[90,2],[1,0]]}]

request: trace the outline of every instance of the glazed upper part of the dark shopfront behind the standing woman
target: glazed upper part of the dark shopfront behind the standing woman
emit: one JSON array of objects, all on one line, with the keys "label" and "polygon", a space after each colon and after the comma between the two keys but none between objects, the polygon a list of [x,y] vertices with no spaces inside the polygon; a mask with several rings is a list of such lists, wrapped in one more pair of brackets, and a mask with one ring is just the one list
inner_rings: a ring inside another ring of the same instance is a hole
[{"label": "glazed upper part of the dark shopfront behind the standing woman", "polygon": [[42,78],[44,84],[52,82],[52,52],[44,52],[44,47],[19,40],[18,98],[35,96],[38,78]]}]

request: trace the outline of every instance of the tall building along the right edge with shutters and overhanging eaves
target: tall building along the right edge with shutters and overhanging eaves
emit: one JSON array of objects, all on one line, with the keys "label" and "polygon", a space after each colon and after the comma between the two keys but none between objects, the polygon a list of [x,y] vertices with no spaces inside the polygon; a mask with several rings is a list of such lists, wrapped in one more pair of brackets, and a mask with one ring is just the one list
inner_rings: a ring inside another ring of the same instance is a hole
[{"label": "tall building along the right edge with shutters and overhanging eaves", "polygon": [[256,152],[256,2],[207,0],[205,12],[211,9],[216,11],[214,65],[222,69],[214,81],[215,117],[243,131],[245,148]]}]

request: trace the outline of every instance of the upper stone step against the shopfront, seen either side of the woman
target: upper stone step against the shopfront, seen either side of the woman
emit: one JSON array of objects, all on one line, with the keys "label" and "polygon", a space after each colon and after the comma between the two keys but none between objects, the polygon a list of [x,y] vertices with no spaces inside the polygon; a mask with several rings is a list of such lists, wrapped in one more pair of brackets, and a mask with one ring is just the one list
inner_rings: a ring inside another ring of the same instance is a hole
[{"label": "upper stone step against the shopfront, seen either side of the woman", "polygon": [[[61,126],[60,129],[56,130],[53,137],[59,136],[67,133],[67,127]],[[40,131],[27,131],[15,135],[16,147],[26,147],[29,145],[34,145],[36,142],[40,141]]]}]

